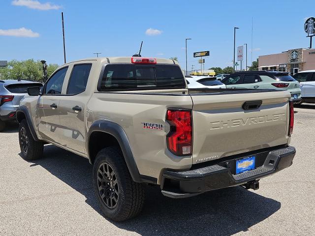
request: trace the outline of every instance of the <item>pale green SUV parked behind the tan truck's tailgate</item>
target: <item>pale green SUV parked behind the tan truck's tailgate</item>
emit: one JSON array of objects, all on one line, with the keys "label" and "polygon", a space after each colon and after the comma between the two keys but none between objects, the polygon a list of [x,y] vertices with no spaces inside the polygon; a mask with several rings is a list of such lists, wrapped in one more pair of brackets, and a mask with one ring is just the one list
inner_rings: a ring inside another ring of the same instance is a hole
[{"label": "pale green SUV parked behind the tan truck's tailgate", "polygon": [[281,89],[291,93],[293,103],[301,103],[300,83],[288,72],[240,71],[230,74],[222,81],[227,89]]}]

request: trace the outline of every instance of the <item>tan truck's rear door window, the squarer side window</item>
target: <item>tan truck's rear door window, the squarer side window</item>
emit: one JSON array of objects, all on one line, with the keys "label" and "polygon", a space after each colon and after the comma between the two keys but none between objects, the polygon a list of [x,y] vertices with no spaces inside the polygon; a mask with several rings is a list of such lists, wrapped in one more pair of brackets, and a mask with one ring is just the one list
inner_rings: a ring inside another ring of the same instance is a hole
[{"label": "tan truck's rear door window, the squarer side window", "polygon": [[67,94],[84,92],[90,75],[92,64],[74,65],[70,76]]}]

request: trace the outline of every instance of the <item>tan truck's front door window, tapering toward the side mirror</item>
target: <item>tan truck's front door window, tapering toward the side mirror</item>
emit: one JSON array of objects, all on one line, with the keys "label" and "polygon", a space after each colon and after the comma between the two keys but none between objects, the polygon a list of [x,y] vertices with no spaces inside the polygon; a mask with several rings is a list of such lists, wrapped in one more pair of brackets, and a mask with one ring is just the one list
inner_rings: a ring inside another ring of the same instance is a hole
[{"label": "tan truck's front door window, tapering toward the side mirror", "polygon": [[61,94],[63,88],[63,81],[65,73],[67,72],[68,67],[64,67],[57,71],[46,84],[46,89],[44,94]]}]

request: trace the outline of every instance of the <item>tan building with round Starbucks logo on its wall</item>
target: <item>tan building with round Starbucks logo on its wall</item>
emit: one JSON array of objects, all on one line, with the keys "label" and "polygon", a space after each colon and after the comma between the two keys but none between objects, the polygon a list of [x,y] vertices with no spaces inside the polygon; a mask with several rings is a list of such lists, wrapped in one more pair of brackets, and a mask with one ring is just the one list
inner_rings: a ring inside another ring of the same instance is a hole
[{"label": "tan building with round Starbucks logo on its wall", "polygon": [[291,75],[302,70],[315,70],[315,49],[298,48],[259,56],[258,70],[288,71]]}]

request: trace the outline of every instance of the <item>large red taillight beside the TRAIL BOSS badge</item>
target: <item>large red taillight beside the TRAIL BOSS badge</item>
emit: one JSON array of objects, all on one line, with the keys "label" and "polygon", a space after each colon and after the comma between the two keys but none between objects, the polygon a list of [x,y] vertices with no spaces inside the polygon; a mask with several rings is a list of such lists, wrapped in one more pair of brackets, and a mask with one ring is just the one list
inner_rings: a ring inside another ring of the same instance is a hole
[{"label": "large red taillight beside the TRAIL BOSS badge", "polygon": [[166,121],[170,124],[170,132],[166,136],[167,148],[175,155],[191,155],[192,122],[191,111],[167,110]]}]

